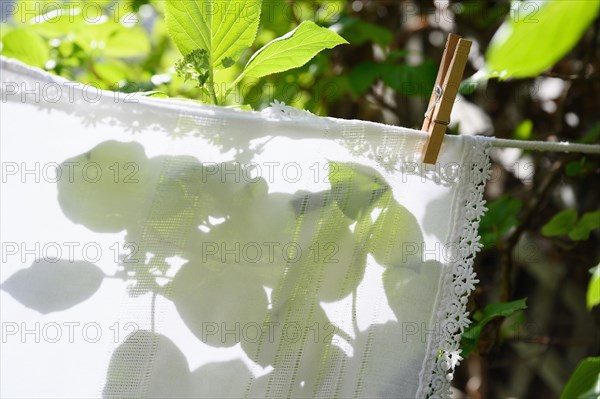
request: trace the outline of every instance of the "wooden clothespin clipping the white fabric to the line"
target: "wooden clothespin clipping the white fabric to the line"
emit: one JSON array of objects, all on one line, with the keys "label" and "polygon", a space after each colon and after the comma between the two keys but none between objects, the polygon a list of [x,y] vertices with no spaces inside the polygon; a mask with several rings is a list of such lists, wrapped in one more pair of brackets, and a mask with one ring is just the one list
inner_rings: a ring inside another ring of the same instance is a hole
[{"label": "wooden clothespin clipping the white fabric to the line", "polygon": [[429,133],[423,150],[424,163],[434,164],[437,161],[470,49],[471,41],[464,40],[453,33],[448,35],[442,63],[421,128]]}]

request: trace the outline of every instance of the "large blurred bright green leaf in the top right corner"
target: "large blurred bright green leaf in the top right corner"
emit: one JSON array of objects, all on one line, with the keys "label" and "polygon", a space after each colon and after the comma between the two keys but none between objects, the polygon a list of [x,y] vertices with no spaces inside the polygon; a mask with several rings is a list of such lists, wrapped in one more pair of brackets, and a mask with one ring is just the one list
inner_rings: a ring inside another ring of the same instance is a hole
[{"label": "large blurred bright green leaf in the top right corner", "polygon": [[587,0],[515,4],[486,53],[492,76],[532,77],[552,67],[578,43],[600,9],[600,2]]}]

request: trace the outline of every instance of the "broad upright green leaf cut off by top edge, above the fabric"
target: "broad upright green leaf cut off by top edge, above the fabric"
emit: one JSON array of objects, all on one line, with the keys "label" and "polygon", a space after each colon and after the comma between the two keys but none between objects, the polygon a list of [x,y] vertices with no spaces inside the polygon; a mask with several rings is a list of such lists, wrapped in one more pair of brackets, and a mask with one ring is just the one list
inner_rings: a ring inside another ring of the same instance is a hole
[{"label": "broad upright green leaf cut off by top edge, above the fabric", "polygon": [[165,20],[181,54],[206,50],[217,70],[231,66],[252,45],[260,9],[261,0],[170,0]]}]

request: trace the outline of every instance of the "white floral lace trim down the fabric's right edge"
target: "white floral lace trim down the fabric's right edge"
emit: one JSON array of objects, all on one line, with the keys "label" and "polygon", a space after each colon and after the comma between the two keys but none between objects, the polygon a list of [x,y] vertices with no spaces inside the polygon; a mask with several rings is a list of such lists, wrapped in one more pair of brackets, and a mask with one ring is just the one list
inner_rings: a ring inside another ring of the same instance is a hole
[{"label": "white floral lace trim down the fabric's right edge", "polygon": [[463,360],[460,356],[460,340],[465,328],[471,323],[468,319],[467,302],[469,294],[475,290],[479,282],[473,271],[473,262],[477,252],[481,250],[478,234],[479,222],[487,208],[483,199],[485,183],[490,173],[489,151],[491,141],[486,138],[465,137],[471,144],[469,154],[465,158],[470,164],[469,181],[459,194],[459,206],[462,207],[464,219],[459,222],[459,260],[452,264],[452,271],[446,272],[442,281],[442,292],[438,298],[439,311],[436,321],[439,323],[439,334],[436,334],[428,348],[421,375],[421,387],[417,393],[419,398],[437,399],[450,397],[450,382],[454,377],[454,369]]}]

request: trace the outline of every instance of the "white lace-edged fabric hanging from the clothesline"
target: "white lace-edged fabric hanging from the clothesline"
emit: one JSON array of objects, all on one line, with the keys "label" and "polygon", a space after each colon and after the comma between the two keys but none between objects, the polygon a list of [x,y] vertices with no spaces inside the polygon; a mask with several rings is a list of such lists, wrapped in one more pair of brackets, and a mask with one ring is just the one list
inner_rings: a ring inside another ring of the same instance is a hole
[{"label": "white lace-edged fabric hanging from the clothesline", "polygon": [[1,83],[2,397],[448,395],[488,139]]}]

